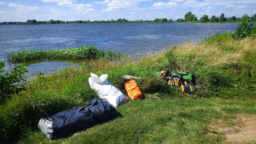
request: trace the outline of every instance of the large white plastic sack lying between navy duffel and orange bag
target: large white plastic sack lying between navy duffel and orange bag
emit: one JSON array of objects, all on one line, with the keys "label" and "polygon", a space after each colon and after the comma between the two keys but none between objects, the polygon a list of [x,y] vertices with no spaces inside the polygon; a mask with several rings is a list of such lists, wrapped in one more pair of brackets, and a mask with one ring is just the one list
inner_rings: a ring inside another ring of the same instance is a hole
[{"label": "large white plastic sack lying between navy duffel and orange bag", "polygon": [[110,84],[106,80],[107,78],[108,74],[98,77],[91,73],[91,77],[89,77],[89,84],[92,89],[96,90],[100,99],[107,99],[108,102],[116,108],[128,101],[129,98],[119,91],[113,84]]}]

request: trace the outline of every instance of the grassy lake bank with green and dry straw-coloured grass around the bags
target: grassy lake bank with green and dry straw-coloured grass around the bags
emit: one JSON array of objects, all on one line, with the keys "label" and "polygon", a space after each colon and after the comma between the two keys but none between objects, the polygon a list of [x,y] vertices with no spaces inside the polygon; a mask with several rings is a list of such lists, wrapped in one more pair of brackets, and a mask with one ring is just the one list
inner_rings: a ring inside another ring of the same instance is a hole
[{"label": "grassy lake bank with green and dry straw-coloured grass around the bags", "polygon": [[[209,136],[207,125],[231,120],[238,113],[256,114],[255,35],[241,41],[231,33],[209,37],[202,44],[176,45],[142,60],[95,59],[51,76],[39,76],[27,90],[13,94],[0,106],[3,143],[225,143],[224,133]],[[159,80],[161,70],[191,72],[204,89],[202,96],[183,94]],[[77,105],[85,106],[97,94],[88,78],[108,74],[108,81],[127,95],[124,75],[136,80],[144,100],[130,100],[117,108],[118,116],[66,138],[49,140],[37,128],[38,120]]]}]

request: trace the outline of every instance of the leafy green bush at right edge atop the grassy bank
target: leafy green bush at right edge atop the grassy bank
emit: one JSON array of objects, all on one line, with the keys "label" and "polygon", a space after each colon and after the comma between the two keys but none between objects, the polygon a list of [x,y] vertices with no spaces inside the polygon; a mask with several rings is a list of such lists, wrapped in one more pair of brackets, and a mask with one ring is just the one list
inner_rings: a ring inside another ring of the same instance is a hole
[{"label": "leafy green bush at right edge atop the grassy bank", "polygon": [[232,34],[233,39],[243,39],[251,33],[256,32],[256,26],[253,26],[253,23],[249,24],[251,20],[249,17],[244,17],[242,23],[238,25],[235,34]]}]

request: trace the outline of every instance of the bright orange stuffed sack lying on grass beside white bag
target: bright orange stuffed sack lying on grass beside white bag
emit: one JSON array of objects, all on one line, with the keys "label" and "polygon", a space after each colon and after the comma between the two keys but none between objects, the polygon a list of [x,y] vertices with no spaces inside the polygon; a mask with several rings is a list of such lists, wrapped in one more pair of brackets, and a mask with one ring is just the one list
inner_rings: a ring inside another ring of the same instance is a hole
[{"label": "bright orange stuffed sack lying on grass beside white bag", "polygon": [[143,94],[141,93],[140,88],[135,80],[125,82],[124,87],[132,100],[143,98]]}]

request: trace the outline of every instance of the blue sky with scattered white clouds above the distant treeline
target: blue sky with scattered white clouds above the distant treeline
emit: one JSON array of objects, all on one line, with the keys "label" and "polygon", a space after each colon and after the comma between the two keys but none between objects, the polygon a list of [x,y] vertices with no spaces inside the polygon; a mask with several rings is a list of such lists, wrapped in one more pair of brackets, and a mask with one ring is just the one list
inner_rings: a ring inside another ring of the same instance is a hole
[{"label": "blue sky with scattered white clouds above the distant treeline", "polygon": [[48,20],[167,20],[192,12],[225,17],[252,16],[256,0],[0,0],[0,22]]}]

